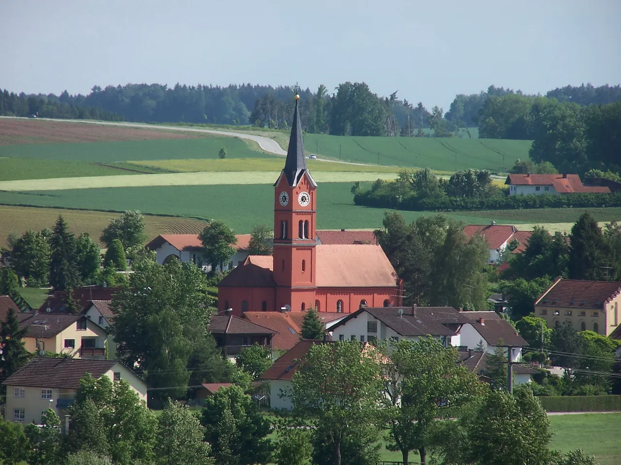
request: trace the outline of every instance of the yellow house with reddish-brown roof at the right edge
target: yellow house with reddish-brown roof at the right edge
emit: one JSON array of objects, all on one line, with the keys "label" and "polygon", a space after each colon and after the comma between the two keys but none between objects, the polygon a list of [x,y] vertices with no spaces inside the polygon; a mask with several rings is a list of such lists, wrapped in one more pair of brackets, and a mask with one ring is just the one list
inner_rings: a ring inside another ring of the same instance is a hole
[{"label": "yellow house with reddish-brown roof at the right edge", "polygon": [[621,325],[620,307],[619,282],[558,278],[535,301],[535,316],[545,319],[550,328],[568,322],[578,331],[609,336]]}]

